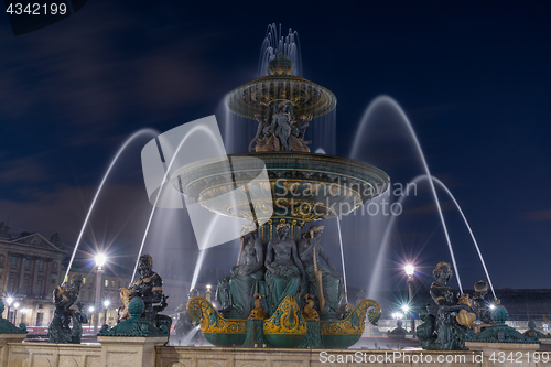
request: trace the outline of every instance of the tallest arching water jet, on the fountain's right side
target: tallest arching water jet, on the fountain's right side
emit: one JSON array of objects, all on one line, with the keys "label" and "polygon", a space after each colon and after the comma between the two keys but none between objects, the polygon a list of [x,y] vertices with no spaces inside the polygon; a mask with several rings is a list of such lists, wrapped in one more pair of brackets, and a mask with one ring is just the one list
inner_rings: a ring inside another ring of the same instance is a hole
[{"label": "tallest arching water jet, on the fountain's right side", "polygon": [[[354,143],[352,145],[350,158],[356,156],[358,149],[360,148],[360,144],[363,144],[361,139],[364,137],[364,130],[365,130],[366,126],[369,123],[369,117],[379,106],[385,106],[385,105],[390,106],[400,116],[400,121],[402,121],[406,125],[408,132],[415,144],[415,148],[417,148],[419,156],[421,158],[421,163],[423,164],[423,169],[424,169],[425,174],[428,176],[431,176],[431,172],[429,170],[429,165],[426,164],[426,160],[424,158],[423,150],[421,149],[421,144],[419,143],[415,131],[413,130],[413,127],[412,127],[410,120],[408,119],[408,117],[403,112],[400,105],[398,105],[398,102],[389,96],[379,96],[379,97],[375,98],[367,107],[366,112],[361,117],[361,122],[359,125],[358,131],[357,131],[356,137],[354,139]],[[436,190],[434,187],[434,183],[432,182],[432,180],[429,180],[429,183],[431,185],[431,191],[432,191],[432,195],[434,197],[434,203],[436,204],[436,208],[439,211],[440,220],[442,222],[442,227],[444,228],[444,235],[445,235],[445,238],[447,241],[447,248],[450,250],[452,263],[453,263],[453,267],[455,269],[455,273],[457,276],[457,283],[460,285],[460,291],[461,291],[461,293],[463,293],[463,287],[461,283],[460,271],[457,270],[457,263],[455,261],[455,256],[454,256],[453,248],[452,248],[452,241],[451,241],[450,235],[447,233],[447,226],[446,226],[445,220],[444,220],[442,207],[440,206],[439,196],[436,194]],[[377,263],[376,263],[376,267],[374,270],[374,276],[371,277],[371,281],[369,283],[369,290],[376,289],[376,287],[377,287],[377,283],[378,283],[377,274],[380,272],[380,267],[381,267],[380,263],[381,263],[380,261],[377,261]]]}]

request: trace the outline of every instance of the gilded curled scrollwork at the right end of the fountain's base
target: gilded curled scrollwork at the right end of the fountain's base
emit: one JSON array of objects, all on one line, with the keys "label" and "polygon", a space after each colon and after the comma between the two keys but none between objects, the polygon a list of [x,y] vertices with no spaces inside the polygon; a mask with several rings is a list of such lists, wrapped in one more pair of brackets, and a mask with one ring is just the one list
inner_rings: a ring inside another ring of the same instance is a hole
[{"label": "gilded curled scrollwork at the right end of the fountain's base", "polygon": [[381,315],[379,303],[374,300],[360,301],[354,310],[344,320],[322,321],[322,335],[360,335],[364,334],[367,319],[374,325],[377,325]]}]

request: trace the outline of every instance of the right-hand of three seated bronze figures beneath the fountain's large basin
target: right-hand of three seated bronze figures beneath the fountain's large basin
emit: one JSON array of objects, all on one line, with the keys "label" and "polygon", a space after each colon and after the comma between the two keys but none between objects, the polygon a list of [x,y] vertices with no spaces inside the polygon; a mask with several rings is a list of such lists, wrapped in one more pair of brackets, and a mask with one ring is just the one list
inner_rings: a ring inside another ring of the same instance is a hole
[{"label": "right-hand of three seated bronze figures beneath the fountain's large basin", "polygon": [[[337,268],[322,247],[323,230],[324,226],[311,226],[299,241],[299,253],[307,274],[307,292],[314,295],[317,310],[322,314],[331,314],[339,310],[344,287]],[[333,274],[320,265],[320,258]]]}]

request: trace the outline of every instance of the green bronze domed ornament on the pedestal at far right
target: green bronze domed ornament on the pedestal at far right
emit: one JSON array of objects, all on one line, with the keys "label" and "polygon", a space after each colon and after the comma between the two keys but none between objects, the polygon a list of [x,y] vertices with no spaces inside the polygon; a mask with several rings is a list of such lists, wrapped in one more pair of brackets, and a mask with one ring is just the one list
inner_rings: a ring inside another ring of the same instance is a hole
[{"label": "green bronze domed ornament on the pedestal at far right", "polygon": [[468,342],[541,344],[538,338],[522,335],[515,328],[507,326],[506,321],[509,319],[509,314],[503,305],[494,305],[490,314],[494,325],[476,335],[471,334]]}]

